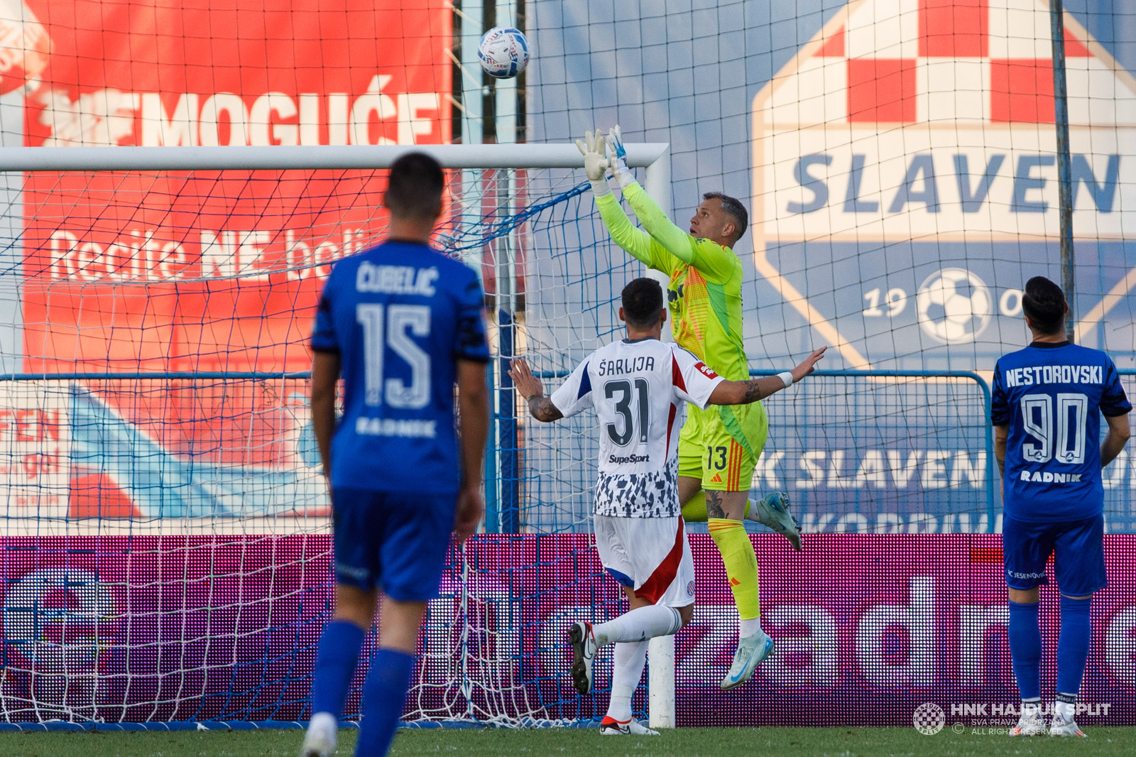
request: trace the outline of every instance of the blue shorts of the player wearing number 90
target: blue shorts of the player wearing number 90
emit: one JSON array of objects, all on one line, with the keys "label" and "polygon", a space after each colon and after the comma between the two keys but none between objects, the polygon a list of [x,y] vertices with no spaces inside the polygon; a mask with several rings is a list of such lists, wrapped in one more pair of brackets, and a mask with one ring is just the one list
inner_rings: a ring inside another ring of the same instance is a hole
[{"label": "blue shorts of the player wearing number 90", "polygon": [[1104,516],[1068,523],[1002,521],[1005,583],[1033,589],[1049,583],[1045,563],[1053,555],[1053,575],[1067,597],[1084,597],[1109,585],[1104,574]]}]

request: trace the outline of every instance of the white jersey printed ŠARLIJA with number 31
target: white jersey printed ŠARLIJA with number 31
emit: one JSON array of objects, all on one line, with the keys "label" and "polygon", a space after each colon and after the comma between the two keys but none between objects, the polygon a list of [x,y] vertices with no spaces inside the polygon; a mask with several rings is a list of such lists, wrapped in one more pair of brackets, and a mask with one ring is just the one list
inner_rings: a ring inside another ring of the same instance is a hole
[{"label": "white jersey printed \u0160ARLIJA with number 31", "polygon": [[565,416],[595,408],[600,476],[595,515],[679,515],[678,406],[705,409],[725,381],[682,347],[658,339],[612,342],[592,352],[553,392]]}]

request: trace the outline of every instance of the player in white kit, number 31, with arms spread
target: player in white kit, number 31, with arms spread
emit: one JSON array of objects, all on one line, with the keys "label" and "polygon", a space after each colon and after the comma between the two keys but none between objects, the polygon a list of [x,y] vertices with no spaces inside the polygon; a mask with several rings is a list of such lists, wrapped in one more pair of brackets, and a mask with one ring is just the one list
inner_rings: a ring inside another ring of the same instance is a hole
[{"label": "player in white kit, number 31, with arms spread", "polygon": [[[618,581],[629,612],[607,623],[573,624],[573,680],[592,690],[596,649],[615,643],[611,700],[600,724],[604,735],[658,735],[632,717],[632,694],[643,675],[646,643],[690,623],[694,610],[694,561],[678,502],[678,409],[691,402],[745,405],[769,397],[812,373],[825,348],[793,371],[749,381],[726,381],[698,357],[660,341],[667,321],[662,288],[636,278],[623,291],[619,318],[627,338],[592,352],[552,397],[524,359],[509,375],[542,422],[595,408],[600,422],[599,480],[592,514],[595,547],[604,569]],[[772,651],[766,637],[760,659]],[[759,662],[760,662],[759,659]]]}]

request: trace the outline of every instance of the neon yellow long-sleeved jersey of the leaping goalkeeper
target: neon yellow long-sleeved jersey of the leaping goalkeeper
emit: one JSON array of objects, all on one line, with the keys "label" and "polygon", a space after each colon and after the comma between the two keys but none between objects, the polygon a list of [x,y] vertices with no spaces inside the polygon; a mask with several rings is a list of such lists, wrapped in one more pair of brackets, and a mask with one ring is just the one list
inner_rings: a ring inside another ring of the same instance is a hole
[{"label": "neon yellow long-sleeved jersey of the leaping goalkeeper", "polygon": [[742,343],[742,261],[728,247],[695,239],[673,224],[633,183],[624,197],[643,224],[635,228],[611,194],[596,198],[616,244],[670,277],[667,300],[675,341],[730,381],[750,377]]}]

